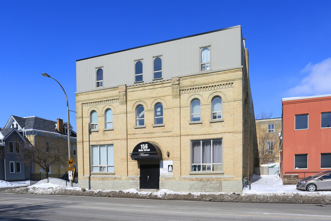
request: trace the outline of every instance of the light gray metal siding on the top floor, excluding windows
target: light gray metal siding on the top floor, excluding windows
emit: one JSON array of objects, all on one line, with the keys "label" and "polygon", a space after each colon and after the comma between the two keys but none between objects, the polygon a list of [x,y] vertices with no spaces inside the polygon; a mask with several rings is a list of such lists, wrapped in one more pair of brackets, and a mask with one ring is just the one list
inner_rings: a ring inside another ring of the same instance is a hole
[{"label": "light gray metal siding on the top floor, excluding windows", "polygon": [[134,85],[135,60],[142,59],[143,83],[153,81],[153,57],[162,56],[162,77],[194,75],[200,72],[200,47],[209,46],[211,70],[242,65],[241,27],[167,41],[132,50],[79,60],[77,92],[96,89],[96,67],[103,66],[104,87]]}]

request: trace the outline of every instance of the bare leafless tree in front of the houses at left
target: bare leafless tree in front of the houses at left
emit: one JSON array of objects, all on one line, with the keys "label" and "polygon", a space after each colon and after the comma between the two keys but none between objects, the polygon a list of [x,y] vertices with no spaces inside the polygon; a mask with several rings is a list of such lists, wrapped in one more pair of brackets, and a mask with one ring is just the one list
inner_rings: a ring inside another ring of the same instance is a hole
[{"label": "bare leafless tree in front of the houses at left", "polygon": [[[49,171],[49,166],[55,162],[63,162],[67,154],[61,142],[54,142],[55,139],[49,136],[31,145],[26,143],[22,146],[24,157],[27,161],[38,164],[44,171]],[[53,141],[53,142],[52,142]],[[56,144],[55,144],[56,143]]]}]

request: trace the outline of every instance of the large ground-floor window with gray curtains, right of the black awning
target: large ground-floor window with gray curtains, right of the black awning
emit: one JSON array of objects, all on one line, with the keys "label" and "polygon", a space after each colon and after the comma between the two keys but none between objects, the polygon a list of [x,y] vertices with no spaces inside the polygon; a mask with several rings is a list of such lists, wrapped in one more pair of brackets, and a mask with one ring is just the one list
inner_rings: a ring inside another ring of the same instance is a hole
[{"label": "large ground-floor window with gray curtains, right of the black awning", "polygon": [[191,141],[191,171],[222,171],[222,139]]}]

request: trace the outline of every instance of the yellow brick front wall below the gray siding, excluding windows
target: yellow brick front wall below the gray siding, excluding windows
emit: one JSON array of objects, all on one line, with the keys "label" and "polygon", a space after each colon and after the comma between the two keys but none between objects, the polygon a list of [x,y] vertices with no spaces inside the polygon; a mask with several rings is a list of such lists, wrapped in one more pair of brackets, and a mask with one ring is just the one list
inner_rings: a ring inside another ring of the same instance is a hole
[{"label": "yellow brick front wall below the gray siding, excluding windows", "polygon": [[[80,183],[89,179],[139,180],[139,161],[130,152],[140,142],[155,142],[163,160],[173,161],[173,176],[160,181],[233,181],[242,182],[243,146],[243,72],[242,68],[173,78],[172,80],[125,85],[78,93],[77,133]],[[211,101],[222,98],[222,121],[211,122]],[[190,124],[190,102],[201,103],[201,124]],[[154,106],[163,104],[164,126],[154,127]],[[143,105],[145,127],[135,128],[135,108]],[[113,130],[104,130],[105,111],[113,111]],[[89,131],[90,113],[98,115],[98,130]],[[222,139],[223,173],[192,174],[191,140]],[[115,173],[91,174],[91,145],[114,144]],[[247,144],[248,145],[248,144]],[[169,151],[170,157],[166,156]],[[249,156],[250,157],[250,156]],[[248,159],[248,158],[247,158]],[[251,160],[252,161],[252,160]],[[85,185],[85,184],[83,184]],[[193,184],[192,184],[193,185]],[[231,185],[226,184],[226,185]],[[225,188],[225,187],[224,187]],[[226,186],[227,188],[227,186]],[[231,188],[230,188],[231,189]]]}]

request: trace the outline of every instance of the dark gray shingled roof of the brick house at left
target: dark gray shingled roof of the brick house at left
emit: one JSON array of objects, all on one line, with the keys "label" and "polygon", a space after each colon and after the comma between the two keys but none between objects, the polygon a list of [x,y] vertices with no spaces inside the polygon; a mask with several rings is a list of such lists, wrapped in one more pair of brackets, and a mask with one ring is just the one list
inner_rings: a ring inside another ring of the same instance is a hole
[{"label": "dark gray shingled roof of the brick house at left", "polygon": [[[60,134],[59,131],[56,130],[56,121],[47,120],[36,116],[24,118],[13,116],[13,118],[16,120],[17,124],[19,124],[21,128],[24,128],[24,130],[34,129]],[[63,123],[63,125],[64,124],[66,125],[66,122]],[[71,136],[77,137],[77,134],[71,130]]]}]

